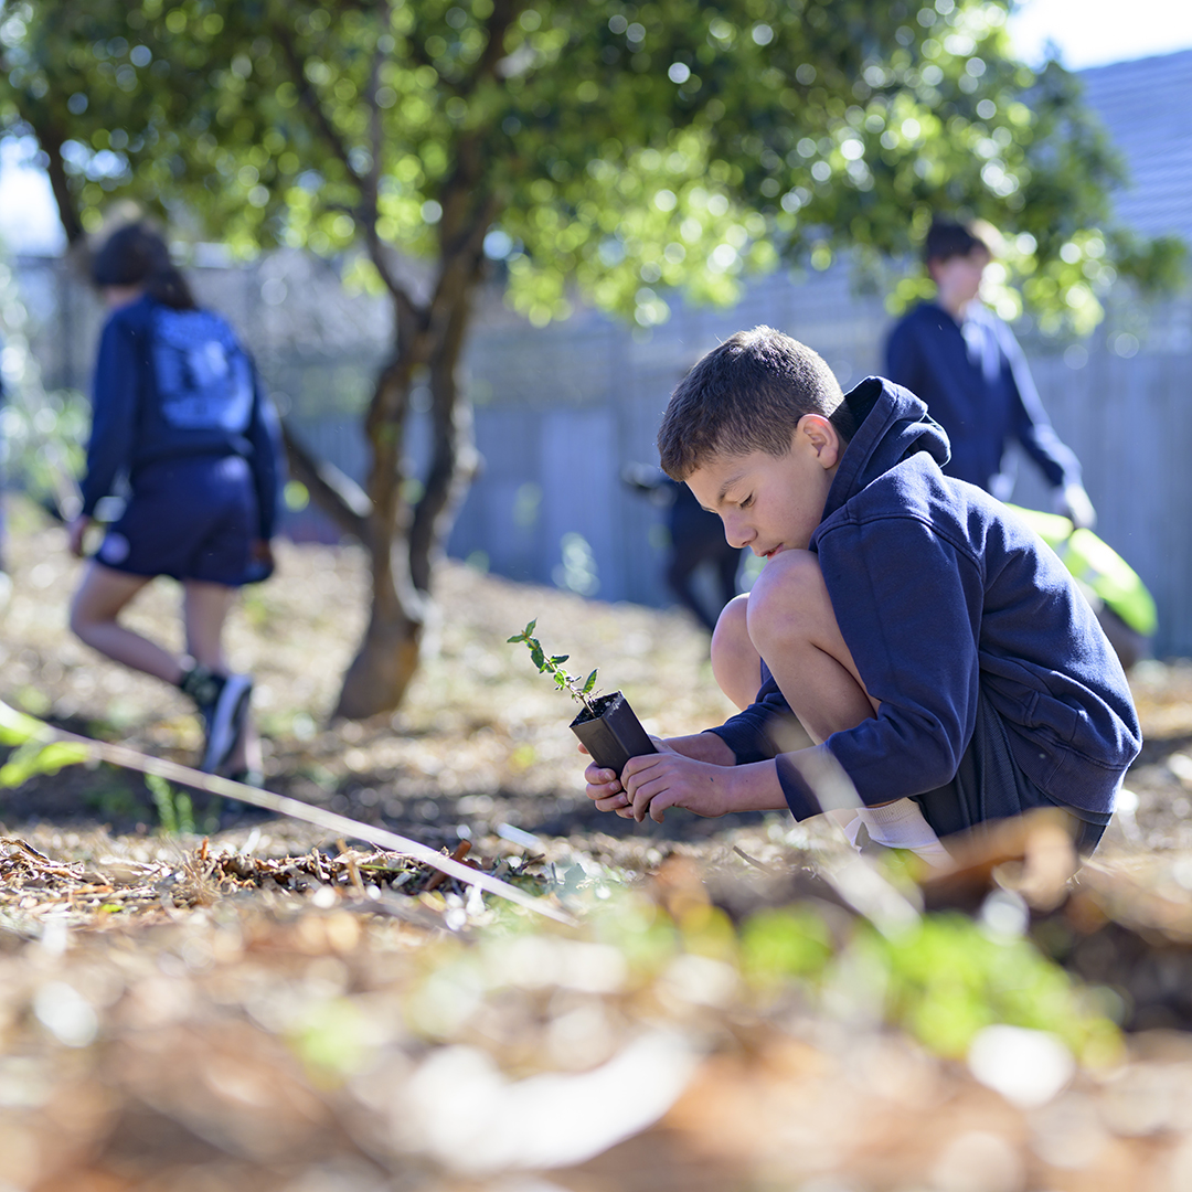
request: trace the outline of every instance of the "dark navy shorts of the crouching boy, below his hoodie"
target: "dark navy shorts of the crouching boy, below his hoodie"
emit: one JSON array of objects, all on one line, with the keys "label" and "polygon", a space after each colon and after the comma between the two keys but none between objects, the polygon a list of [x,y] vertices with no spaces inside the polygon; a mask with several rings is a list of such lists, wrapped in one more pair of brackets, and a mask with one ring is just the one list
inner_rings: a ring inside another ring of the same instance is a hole
[{"label": "dark navy shorts of the crouching boy, below his hoodie", "polygon": [[983,695],[977,699],[973,739],[956,776],[936,790],[912,797],[938,837],[1022,815],[1037,807],[1060,807],[1075,819],[1076,851],[1082,857],[1097,848],[1111,819],[1109,813],[1057,802],[1031,782],[1010,750],[1006,725]]}]

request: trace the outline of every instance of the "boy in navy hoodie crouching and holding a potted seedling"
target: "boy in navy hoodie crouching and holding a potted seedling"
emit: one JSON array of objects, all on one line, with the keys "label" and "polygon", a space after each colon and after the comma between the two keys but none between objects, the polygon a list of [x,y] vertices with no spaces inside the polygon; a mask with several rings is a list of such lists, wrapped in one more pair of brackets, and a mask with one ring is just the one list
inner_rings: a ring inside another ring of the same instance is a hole
[{"label": "boy in navy hoodie crouching and holding a potted seedling", "polygon": [[[691,370],[658,442],[768,561],[713,638],[741,712],[620,778],[590,765],[598,808],[806,819],[843,770],[879,844],[936,859],[938,837],[1058,806],[1092,851],[1141,745],[1125,676],[1051,550],[944,476],[923,402],[879,378],[843,396],[814,352],[757,328]],[[791,714],[815,745],[787,751]]]}]

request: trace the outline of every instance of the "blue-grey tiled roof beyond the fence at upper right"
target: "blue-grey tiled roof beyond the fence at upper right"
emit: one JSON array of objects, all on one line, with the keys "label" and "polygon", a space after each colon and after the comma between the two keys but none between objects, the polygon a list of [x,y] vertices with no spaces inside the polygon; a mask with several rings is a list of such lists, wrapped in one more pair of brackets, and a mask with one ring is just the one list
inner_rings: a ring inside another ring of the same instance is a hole
[{"label": "blue-grey tiled roof beyond the fence at upper right", "polygon": [[1082,70],[1085,98],[1125,157],[1116,213],[1192,244],[1192,50]]}]

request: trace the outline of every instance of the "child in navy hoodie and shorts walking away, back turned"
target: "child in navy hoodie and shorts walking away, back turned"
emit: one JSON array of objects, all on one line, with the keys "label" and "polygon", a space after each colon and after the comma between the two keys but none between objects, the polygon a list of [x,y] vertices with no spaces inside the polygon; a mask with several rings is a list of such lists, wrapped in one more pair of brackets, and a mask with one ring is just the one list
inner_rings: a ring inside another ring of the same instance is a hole
[{"label": "child in navy hoodie and shorts walking away, back turned", "polygon": [[[253,684],[228,665],[223,629],[237,589],[273,567],[275,418],[231,328],[197,306],[156,232],[141,224],[113,232],[92,277],[111,316],[70,550],[83,553],[97,505],[120,477],[129,499],[83,573],[70,627],[108,658],[190,695],[205,731],[201,769],[247,780],[259,769]],[[155,576],[184,586],[181,658],[120,621]]]}]

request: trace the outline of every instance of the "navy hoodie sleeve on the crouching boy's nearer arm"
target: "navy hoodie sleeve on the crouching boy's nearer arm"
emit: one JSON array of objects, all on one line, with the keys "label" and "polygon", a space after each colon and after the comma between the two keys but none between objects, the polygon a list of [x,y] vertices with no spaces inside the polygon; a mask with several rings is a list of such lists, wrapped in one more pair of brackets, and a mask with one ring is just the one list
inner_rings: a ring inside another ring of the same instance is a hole
[{"label": "navy hoodie sleeve on the crouching boy's nearer arm", "polygon": [[[983,583],[967,550],[914,516],[846,522],[819,544],[837,621],[876,718],[825,745],[864,803],[951,781],[976,721]],[[778,759],[796,819],[819,812],[799,755]]]}]

